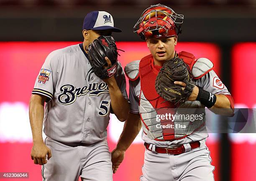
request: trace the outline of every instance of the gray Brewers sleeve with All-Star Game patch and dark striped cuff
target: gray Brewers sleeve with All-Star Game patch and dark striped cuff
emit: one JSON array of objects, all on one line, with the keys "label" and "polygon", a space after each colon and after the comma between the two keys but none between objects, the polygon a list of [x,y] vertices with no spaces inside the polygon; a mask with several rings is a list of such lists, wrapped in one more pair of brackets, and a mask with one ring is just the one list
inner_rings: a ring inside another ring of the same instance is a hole
[{"label": "gray Brewers sleeve with All-Star Game patch and dark striped cuff", "polygon": [[32,94],[41,94],[47,97],[46,102],[53,98],[54,89],[56,87],[58,69],[58,57],[51,52],[41,67]]}]

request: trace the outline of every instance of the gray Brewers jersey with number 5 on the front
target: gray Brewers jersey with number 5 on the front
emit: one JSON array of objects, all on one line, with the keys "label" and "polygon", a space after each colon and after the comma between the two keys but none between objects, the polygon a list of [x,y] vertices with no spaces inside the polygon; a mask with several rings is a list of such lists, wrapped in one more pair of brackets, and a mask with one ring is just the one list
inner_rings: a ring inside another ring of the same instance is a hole
[{"label": "gray Brewers jersey with number 5 on the front", "polygon": [[[46,58],[32,94],[46,96],[44,133],[65,143],[92,144],[107,137],[110,113],[108,86],[94,73],[82,44],[51,52]],[[125,75],[118,62],[115,79],[125,97]]]}]

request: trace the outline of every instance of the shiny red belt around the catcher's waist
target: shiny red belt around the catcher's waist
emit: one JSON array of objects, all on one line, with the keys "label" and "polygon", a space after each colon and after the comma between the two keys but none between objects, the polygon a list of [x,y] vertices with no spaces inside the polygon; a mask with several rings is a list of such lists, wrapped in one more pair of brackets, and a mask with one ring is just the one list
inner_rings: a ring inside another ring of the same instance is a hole
[{"label": "shiny red belt around the catcher's waist", "polygon": [[[189,143],[189,145],[191,146],[191,149],[195,149],[200,146],[200,142],[195,141],[193,143]],[[149,149],[150,144],[145,142],[144,146],[146,147],[147,150],[152,151]],[[156,146],[155,151],[159,154],[179,155],[179,154],[185,153],[185,147],[183,145],[171,145],[167,148],[162,148],[162,147]]]}]

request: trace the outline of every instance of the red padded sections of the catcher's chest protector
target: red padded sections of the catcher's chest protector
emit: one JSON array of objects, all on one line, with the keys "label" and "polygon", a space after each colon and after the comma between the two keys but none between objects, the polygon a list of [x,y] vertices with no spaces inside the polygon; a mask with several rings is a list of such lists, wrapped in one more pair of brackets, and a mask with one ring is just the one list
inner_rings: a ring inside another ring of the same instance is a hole
[{"label": "red padded sections of the catcher's chest protector", "polygon": [[[195,64],[195,56],[189,52],[180,52],[178,54],[180,58],[192,69],[193,65]],[[156,76],[159,73],[154,67],[154,59],[152,55],[147,55],[146,57],[142,58],[139,64],[139,76],[141,80],[141,90],[145,98],[150,102],[150,104],[156,109],[157,114],[165,114],[166,109],[161,108],[174,108],[174,104],[169,101],[165,101],[162,97],[157,94],[155,89],[155,80]],[[173,110],[173,109],[172,109]],[[170,113],[174,114],[174,111],[170,110]],[[164,121],[161,124],[173,124],[172,121]],[[173,140],[174,133],[170,133],[170,130],[163,129],[164,140]],[[160,141],[160,140],[159,140]],[[163,141],[163,140],[162,140]]]}]

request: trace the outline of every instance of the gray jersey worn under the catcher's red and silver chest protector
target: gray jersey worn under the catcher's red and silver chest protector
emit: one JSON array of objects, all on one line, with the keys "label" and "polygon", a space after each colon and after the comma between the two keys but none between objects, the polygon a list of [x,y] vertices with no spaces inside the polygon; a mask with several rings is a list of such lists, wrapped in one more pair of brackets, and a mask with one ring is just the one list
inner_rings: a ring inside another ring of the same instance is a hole
[{"label": "gray jersey worn under the catcher's red and silver chest protector", "polygon": [[[194,71],[194,74],[197,73],[197,72],[195,72],[195,70],[192,70],[192,72],[193,71]],[[201,78],[196,79],[195,81],[196,81],[195,84],[197,86],[202,87],[203,89],[205,89],[208,92],[211,92],[213,94],[228,94],[228,95],[230,95],[230,93],[228,92],[228,89],[218,78],[218,76],[214,72],[214,70],[211,70],[210,72],[208,72]],[[139,102],[140,103],[145,102],[145,97],[141,90],[141,81],[138,78],[135,81],[130,80],[129,84],[130,84],[129,99],[131,102],[130,112],[134,113],[134,114],[139,114],[140,113],[139,112]],[[143,111],[145,112],[144,109],[143,109]],[[164,141],[164,140],[156,141],[152,138],[149,138],[148,135],[146,135],[144,132],[142,132],[141,136],[142,136],[142,139],[146,143],[154,144],[154,145],[158,145],[158,146],[169,146],[172,144],[187,144],[191,141],[200,141],[200,140],[207,138],[208,134],[206,131],[206,126],[203,125],[202,127],[200,127],[200,129],[197,129],[195,132],[193,132],[192,134],[189,134],[185,138],[176,139],[174,141]]]}]

